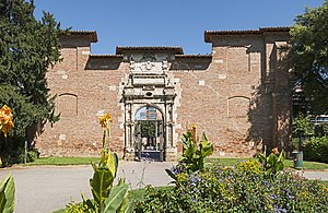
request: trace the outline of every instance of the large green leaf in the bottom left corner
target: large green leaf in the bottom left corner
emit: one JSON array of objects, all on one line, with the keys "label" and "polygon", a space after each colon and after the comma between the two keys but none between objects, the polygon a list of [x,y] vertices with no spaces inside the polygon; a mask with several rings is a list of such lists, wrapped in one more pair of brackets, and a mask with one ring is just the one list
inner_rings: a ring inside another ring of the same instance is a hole
[{"label": "large green leaf in the bottom left corner", "polygon": [[0,182],[0,212],[11,213],[15,204],[15,185],[11,174]]}]

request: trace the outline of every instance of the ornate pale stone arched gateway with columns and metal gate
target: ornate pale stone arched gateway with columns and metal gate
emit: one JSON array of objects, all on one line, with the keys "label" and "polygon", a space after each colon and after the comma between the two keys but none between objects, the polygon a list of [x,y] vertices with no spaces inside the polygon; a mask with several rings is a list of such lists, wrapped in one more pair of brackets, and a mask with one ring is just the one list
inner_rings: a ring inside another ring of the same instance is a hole
[{"label": "ornate pale stone arched gateway with columns and metal gate", "polygon": [[[174,103],[177,94],[168,74],[167,57],[167,54],[144,52],[128,57],[129,75],[122,88],[124,157],[127,159],[175,158]],[[142,132],[145,126],[149,132],[155,133]]]}]

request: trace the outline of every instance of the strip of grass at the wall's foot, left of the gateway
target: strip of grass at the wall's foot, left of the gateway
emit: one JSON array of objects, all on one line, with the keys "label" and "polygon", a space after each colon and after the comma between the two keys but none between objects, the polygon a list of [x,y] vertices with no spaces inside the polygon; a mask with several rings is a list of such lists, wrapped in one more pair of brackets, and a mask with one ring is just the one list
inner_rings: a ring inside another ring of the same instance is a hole
[{"label": "strip of grass at the wall's foot, left of the gateway", "polygon": [[31,165],[90,165],[91,162],[99,162],[99,157],[40,157],[35,159],[35,162],[27,163]]}]

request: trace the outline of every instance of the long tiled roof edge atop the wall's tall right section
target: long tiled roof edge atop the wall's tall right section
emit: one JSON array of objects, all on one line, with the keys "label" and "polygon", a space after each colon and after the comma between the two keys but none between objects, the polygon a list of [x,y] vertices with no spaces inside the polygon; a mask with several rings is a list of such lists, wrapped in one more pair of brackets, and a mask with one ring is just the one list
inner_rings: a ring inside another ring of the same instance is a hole
[{"label": "long tiled roof edge atop the wall's tall right section", "polygon": [[265,32],[289,32],[291,27],[278,26],[278,27],[261,27],[259,29],[246,29],[246,31],[206,31],[204,42],[211,43],[213,35],[245,35],[245,34],[263,34]]}]

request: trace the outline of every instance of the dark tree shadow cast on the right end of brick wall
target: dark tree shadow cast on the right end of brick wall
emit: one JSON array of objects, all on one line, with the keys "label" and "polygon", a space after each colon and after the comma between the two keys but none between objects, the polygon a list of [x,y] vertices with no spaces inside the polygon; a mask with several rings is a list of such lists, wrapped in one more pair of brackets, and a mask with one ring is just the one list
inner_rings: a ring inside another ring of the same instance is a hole
[{"label": "dark tree shadow cast on the right end of brick wall", "polygon": [[[262,69],[261,82],[251,94],[247,113],[250,128],[247,141],[270,152],[291,147],[291,81],[285,47],[274,48],[269,57],[269,73]],[[265,66],[262,66],[265,67]]]}]

